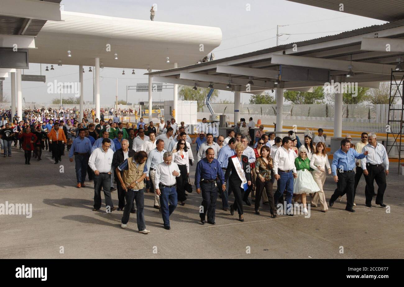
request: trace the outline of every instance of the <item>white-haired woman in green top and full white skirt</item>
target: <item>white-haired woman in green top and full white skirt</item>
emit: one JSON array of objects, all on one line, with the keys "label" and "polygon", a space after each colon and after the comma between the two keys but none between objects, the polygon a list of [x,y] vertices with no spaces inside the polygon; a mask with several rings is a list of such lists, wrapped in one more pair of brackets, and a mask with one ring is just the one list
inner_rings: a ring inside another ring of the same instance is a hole
[{"label": "white-haired woman in green top and full white skirt", "polygon": [[314,181],[310,172],[310,160],[307,158],[307,149],[304,146],[299,148],[299,156],[295,159],[295,167],[297,170],[297,178],[293,183],[293,193],[295,196],[295,203],[298,198],[304,206],[304,213],[307,213],[306,194],[318,192],[320,188]]}]

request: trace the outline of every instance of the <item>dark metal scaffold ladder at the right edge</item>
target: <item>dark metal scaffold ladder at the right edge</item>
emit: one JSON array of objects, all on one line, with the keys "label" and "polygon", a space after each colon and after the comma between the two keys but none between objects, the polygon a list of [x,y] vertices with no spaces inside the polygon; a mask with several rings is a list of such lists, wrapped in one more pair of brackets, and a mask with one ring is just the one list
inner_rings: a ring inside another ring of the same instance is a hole
[{"label": "dark metal scaffold ladder at the right edge", "polygon": [[[398,151],[398,174],[400,174],[401,166],[401,154],[404,150],[402,139],[403,139],[403,129],[404,129],[404,98],[403,98],[403,87],[404,87],[404,73],[400,71],[391,70],[390,79],[390,96],[389,96],[389,116],[386,125],[386,150],[387,154],[395,146]],[[401,107],[397,108],[394,101],[401,99]],[[389,135],[393,143],[389,144]]]}]

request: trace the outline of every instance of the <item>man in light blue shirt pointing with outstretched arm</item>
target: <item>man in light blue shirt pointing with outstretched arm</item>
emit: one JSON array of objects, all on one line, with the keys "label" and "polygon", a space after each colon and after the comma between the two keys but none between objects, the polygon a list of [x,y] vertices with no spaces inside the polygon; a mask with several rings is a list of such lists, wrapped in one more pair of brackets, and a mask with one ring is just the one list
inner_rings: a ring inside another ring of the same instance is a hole
[{"label": "man in light blue shirt pointing with outstretched arm", "polygon": [[355,184],[355,173],[353,169],[356,167],[355,158],[362,159],[368,155],[368,151],[363,154],[358,153],[351,147],[351,142],[348,139],[341,141],[341,148],[334,152],[331,171],[334,176],[334,181],[337,183],[337,189],[330,198],[329,205],[334,205],[340,194],[347,194],[347,206],[345,210],[355,212],[353,207],[353,186]]}]

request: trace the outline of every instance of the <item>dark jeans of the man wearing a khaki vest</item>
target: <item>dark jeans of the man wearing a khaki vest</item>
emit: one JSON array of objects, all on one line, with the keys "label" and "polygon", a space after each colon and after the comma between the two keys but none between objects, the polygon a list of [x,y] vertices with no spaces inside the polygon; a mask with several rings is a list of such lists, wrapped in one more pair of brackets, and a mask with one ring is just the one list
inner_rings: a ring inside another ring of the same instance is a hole
[{"label": "dark jeans of the man wearing a khaki vest", "polygon": [[122,216],[121,222],[123,224],[127,224],[129,221],[129,215],[130,215],[130,210],[132,210],[133,207],[133,200],[136,201],[136,208],[137,208],[137,213],[136,213],[136,221],[137,221],[137,229],[139,231],[145,230],[146,229],[146,224],[145,224],[145,194],[144,194],[144,188],[141,190],[135,191],[132,189],[128,189],[127,192],[125,192],[125,197],[124,197],[124,202],[126,199],[126,205],[124,209],[124,215]]}]

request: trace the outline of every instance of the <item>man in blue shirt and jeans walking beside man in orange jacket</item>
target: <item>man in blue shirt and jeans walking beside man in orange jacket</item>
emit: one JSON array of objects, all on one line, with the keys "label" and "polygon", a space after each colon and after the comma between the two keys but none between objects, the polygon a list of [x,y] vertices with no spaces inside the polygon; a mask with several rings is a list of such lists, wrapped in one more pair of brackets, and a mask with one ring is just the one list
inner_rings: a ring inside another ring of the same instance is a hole
[{"label": "man in blue shirt and jeans walking beside man in orange jacket", "polygon": [[86,179],[88,158],[90,158],[91,142],[85,137],[86,131],[79,129],[79,136],[73,140],[72,147],[69,151],[69,160],[76,161],[76,178],[77,188],[85,187],[84,180]]}]

